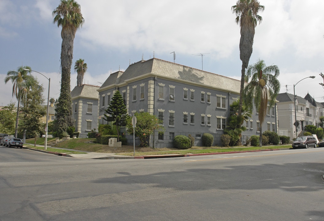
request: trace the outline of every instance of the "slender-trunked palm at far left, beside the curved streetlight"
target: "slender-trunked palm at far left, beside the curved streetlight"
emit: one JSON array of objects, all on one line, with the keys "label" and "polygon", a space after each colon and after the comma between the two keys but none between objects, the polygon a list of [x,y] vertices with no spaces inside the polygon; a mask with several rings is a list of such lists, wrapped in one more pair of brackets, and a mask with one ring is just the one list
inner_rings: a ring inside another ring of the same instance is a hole
[{"label": "slender-trunked palm at far left, beside the curved streetlight", "polygon": [[31,70],[29,66],[20,66],[18,67],[17,71],[8,71],[7,76],[5,77],[5,84],[8,81],[12,82],[12,97],[16,97],[18,100],[17,104],[17,117],[16,117],[16,128],[15,128],[15,137],[17,137],[18,133],[18,120],[19,120],[19,105],[21,99],[21,92],[24,89],[25,81],[28,78],[28,73],[31,71],[24,70],[28,69]]}]

